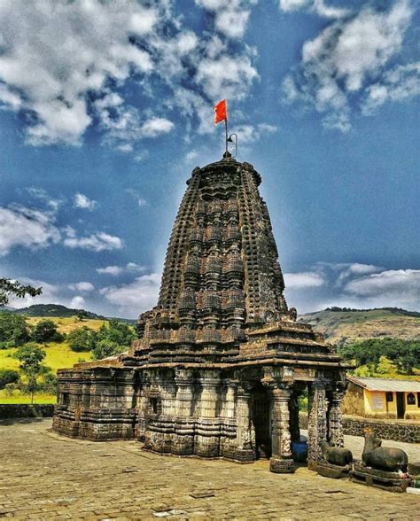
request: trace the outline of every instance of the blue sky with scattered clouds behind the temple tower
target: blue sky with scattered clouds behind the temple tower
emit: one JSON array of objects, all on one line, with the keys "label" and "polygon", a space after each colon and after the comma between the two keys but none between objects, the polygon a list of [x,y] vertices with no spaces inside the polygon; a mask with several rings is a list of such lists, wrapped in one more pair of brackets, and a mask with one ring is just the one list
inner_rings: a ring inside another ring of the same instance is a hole
[{"label": "blue sky with scattered clouds behind the temple tower", "polygon": [[0,267],[13,302],[155,305],[193,167],[261,173],[286,298],[420,309],[414,0],[0,4]]}]

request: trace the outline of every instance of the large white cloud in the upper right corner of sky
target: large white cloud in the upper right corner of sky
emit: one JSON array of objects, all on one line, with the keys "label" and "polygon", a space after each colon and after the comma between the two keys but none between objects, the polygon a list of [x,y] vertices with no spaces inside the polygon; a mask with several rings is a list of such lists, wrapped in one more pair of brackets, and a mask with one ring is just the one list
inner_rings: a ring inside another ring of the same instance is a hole
[{"label": "large white cloud in the upper right corner of sky", "polygon": [[300,66],[284,79],[284,101],[313,105],[324,114],[326,128],[346,132],[351,128],[351,103],[362,105],[366,113],[366,107],[381,105],[385,99],[418,93],[413,80],[418,71],[413,67],[386,71],[391,58],[401,52],[412,15],[408,0],[397,0],[388,11],[369,4],[354,16],[325,27],[304,43]]}]

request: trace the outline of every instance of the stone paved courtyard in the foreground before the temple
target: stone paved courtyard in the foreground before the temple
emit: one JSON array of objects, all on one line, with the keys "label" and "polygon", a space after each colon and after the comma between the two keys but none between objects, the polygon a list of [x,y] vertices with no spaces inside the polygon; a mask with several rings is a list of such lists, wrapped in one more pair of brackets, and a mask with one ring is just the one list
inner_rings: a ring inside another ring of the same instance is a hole
[{"label": "stone paved courtyard in the foreground before the temple", "polygon": [[418,495],[305,468],[272,474],[267,461],[162,457],[134,441],[65,439],[50,428],[51,419],[0,422],[0,517],[420,519]]}]

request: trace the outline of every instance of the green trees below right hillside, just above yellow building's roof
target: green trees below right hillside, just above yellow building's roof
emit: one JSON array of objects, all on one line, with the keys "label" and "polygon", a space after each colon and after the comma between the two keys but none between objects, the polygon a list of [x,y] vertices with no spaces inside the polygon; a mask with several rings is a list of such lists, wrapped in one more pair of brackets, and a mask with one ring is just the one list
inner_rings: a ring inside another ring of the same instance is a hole
[{"label": "green trees below right hillside, just above yellow building's roof", "polygon": [[[385,374],[385,369],[394,372],[398,369],[401,373],[412,375],[413,369],[420,367],[420,340],[369,338],[338,346],[338,353],[346,360],[354,361],[359,366],[368,366],[370,372],[380,374]],[[381,357],[385,357],[382,362]]]}]

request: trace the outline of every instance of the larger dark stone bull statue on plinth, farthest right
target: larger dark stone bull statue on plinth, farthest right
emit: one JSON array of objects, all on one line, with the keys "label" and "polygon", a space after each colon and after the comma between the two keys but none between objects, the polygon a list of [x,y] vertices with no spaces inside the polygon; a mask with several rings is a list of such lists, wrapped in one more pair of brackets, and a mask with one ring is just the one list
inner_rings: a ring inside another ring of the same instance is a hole
[{"label": "larger dark stone bull statue on plinth, farthest right", "polygon": [[401,448],[381,446],[382,439],[365,429],[362,462],[354,463],[352,479],[392,492],[405,492],[411,482],[407,474],[408,455]]}]

